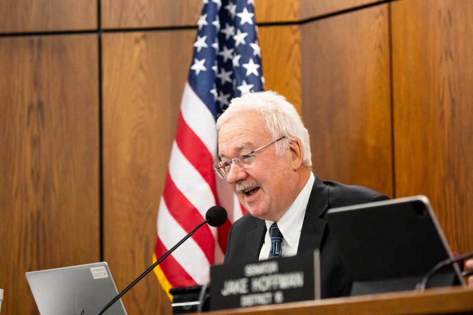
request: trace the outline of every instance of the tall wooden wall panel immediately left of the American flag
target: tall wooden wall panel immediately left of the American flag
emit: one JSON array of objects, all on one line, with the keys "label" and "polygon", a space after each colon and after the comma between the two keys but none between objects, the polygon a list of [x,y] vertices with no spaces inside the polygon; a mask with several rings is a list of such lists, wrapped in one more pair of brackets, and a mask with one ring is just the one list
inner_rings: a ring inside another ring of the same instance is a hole
[{"label": "tall wooden wall panel immediately left of the American flag", "polygon": [[[119,288],[152,263],[156,220],[195,31],[103,36],[104,256]],[[130,314],[170,314],[154,274]]]}]

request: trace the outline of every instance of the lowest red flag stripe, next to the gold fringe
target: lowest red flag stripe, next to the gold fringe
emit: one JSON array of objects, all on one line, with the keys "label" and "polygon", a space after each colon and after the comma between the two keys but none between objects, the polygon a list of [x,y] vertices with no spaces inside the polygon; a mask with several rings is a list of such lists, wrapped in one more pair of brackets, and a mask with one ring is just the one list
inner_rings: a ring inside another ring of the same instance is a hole
[{"label": "lowest red flag stripe, next to the gold fringe", "polygon": [[[168,250],[158,236],[156,240],[156,248],[154,250],[156,259],[159,259],[167,251]],[[189,276],[187,271],[185,271],[184,268],[182,268],[181,265],[174,259],[174,257],[172,257],[172,254],[170,254],[160,263],[160,267],[172,287],[197,285],[194,279]]]}]

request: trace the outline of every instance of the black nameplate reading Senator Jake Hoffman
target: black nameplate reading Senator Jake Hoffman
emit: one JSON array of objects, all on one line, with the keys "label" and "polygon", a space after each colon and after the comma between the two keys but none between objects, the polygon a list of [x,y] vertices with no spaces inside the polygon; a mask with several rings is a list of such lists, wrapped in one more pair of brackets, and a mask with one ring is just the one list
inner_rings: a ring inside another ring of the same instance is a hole
[{"label": "black nameplate reading Senator Jake Hoffman", "polygon": [[210,310],[320,299],[319,251],[210,267]]}]

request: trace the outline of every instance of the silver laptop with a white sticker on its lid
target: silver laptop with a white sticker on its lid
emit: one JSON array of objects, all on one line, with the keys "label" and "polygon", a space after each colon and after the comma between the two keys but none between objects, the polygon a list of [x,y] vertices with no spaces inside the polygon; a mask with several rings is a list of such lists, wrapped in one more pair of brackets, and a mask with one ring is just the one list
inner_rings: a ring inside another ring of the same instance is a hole
[{"label": "silver laptop with a white sticker on its lid", "polygon": [[[106,262],[26,273],[41,315],[98,314],[118,295]],[[120,299],[105,313],[126,315]]]}]

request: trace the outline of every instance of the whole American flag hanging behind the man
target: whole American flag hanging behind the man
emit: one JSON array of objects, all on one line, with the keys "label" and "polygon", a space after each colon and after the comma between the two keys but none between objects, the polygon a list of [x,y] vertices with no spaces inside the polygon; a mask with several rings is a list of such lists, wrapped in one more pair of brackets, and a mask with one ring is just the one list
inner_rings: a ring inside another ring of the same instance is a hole
[{"label": "whole American flag hanging behind the man", "polygon": [[159,207],[153,260],[205,220],[211,206],[224,206],[229,219],[218,229],[204,225],[155,268],[166,292],[207,283],[208,267],[223,261],[231,224],[246,213],[212,167],[218,158],[218,115],[233,97],[262,91],[264,86],[253,1],[203,0]]}]

